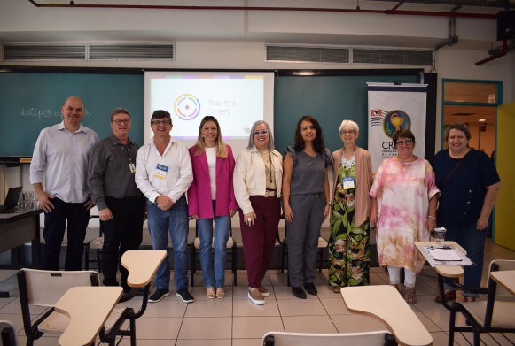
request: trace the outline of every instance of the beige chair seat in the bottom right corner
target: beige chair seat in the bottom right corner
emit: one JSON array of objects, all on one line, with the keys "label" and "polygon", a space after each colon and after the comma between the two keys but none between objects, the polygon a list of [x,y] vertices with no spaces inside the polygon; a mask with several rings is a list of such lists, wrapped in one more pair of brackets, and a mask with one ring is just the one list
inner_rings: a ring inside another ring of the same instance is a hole
[{"label": "beige chair seat in the bottom right corner", "polygon": [[[480,324],[485,324],[485,311],[487,311],[487,301],[480,302],[460,302],[473,318]],[[515,328],[515,302],[495,301],[494,314],[492,315],[492,326],[495,328]]]}]

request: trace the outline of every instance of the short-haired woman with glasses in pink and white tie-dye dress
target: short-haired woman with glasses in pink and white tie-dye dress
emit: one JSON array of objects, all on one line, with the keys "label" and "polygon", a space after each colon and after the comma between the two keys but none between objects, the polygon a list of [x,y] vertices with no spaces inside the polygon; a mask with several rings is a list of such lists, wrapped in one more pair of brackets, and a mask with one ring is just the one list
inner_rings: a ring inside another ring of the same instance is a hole
[{"label": "short-haired woman with glasses in pink and white tie-dye dress", "polygon": [[398,155],[379,166],[371,188],[371,226],[377,224],[379,265],[388,267],[390,284],[399,288],[404,268],[405,300],[415,304],[416,276],[425,258],[414,242],[427,242],[436,227],[436,205],[440,190],[433,168],[413,155],[415,136],[407,128],[392,137]]}]

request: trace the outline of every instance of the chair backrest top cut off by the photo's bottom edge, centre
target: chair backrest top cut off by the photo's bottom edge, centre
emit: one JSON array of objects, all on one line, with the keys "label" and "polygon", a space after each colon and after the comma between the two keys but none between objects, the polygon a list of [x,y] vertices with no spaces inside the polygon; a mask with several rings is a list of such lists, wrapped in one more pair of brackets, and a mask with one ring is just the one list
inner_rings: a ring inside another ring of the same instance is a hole
[{"label": "chair backrest top cut off by the photo's bottom edge, centre", "polygon": [[[303,334],[303,333],[283,333],[269,332],[263,336],[263,345],[275,346],[384,346],[386,337],[391,335],[386,330],[367,332],[367,333],[348,333],[348,334]],[[270,342],[269,336],[273,337]],[[268,342],[268,343],[267,343]]]}]

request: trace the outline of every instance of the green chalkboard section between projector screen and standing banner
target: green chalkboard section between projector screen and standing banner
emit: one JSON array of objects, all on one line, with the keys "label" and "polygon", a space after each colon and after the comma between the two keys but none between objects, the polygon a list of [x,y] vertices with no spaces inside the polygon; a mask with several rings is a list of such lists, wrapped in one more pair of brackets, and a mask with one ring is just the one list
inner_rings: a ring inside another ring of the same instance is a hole
[{"label": "green chalkboard section between projector screen and standing banner", "polygon": [[322,127],[325,146],[339,150],[341,121],[355,121],[360,134],[356,145],[368,148],[367,82],[417,83],[416,75],[388,76],[281,76],[275,79],[274,141],[283,154],[293,145],[295,126],[304,115],[311,115]]}]

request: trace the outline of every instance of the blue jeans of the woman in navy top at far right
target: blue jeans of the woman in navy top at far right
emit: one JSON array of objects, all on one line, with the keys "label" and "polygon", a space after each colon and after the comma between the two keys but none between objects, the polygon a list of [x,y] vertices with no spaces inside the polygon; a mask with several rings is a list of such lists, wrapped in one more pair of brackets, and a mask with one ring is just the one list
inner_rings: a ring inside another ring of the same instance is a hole
[{"label": "blue jeans of the woman in navy top at far right", "polygon": [[[471,288],[479,288],[481,285],[481,275],[483,273],[483,257],[485,250],[485,239],[488,235],[488,229],[492,223],[492,218],[488,219],[488,227],[482,231],[476,229],[476,223],[467,227],[449,227],[445,233],[445,240],[449,242],[457,242],[467,251],[467,257],[472,259],[476,265],[464,266],[464,286]],[[445,227],[445,225],[444,225]],[[456,290],[450,283],[449,279],[444,280],[445,288]],[[471,292],[464,292],[463,296],[479,295]]]}]

